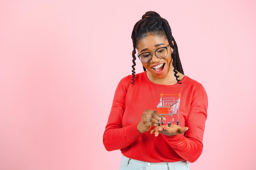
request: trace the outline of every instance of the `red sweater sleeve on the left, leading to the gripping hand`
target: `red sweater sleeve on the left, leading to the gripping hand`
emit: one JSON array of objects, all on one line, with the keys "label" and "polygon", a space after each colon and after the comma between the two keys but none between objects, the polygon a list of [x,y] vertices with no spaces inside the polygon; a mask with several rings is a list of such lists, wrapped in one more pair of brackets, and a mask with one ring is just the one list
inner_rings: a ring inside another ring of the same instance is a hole
[{"label": "red sweater sleeve on the left, leading to the gripping hand", "polygon": [[108,151],[125,148],[142,135],[137,130],[138,122],[135,122],[130,126],[122,126],[126,93],[131,84],[128,80],[130,81],[127,77],[121,79],[115,91],[108,123],[103,134],[103,144]]}]

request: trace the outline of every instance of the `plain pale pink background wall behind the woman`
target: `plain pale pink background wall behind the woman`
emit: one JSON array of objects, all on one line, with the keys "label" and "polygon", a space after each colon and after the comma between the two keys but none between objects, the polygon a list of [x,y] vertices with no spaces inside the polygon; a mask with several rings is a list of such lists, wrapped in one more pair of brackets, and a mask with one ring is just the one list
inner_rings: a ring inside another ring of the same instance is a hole
[{"label": "plain pale pink background wall behind the woman", "polygon": [[255,169],[255,9],[254,0],[1,0],[0,169],[118,168],[121,152],[102,136],[131,74],[132,28],[150,10],[168,20],[185,74],[208,93],[191,170]]}]

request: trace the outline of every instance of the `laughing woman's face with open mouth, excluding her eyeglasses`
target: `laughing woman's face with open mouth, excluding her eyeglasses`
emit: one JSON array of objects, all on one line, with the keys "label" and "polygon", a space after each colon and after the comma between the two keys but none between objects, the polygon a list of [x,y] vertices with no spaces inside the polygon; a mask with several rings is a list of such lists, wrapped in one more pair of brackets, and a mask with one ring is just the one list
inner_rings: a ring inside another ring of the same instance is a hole
[{"label": "laughing woman's face with open mouth, excluding her eyeglasses", "polygon": [[[148,35],[146,38],[139,41],[137,45],[137,51],[139,54],[145,52],[154,52],[161,47],[167,47],[169,45],[168,40],[164,36]],[[171,53],[173,49],[168,46],[168,54],[165,58],[158,58],[155,53],[151,53],[152,59],[149,63],[142,63],[142,65],[151,73],[154,78],[165,78],[168,73],[173,74],[173,65]]]}]

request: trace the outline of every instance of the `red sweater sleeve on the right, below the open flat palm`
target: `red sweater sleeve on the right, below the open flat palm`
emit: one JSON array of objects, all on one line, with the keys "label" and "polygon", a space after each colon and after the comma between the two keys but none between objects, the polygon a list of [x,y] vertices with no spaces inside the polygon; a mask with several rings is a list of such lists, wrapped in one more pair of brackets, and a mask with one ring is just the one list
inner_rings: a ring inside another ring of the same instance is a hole
[{"label": "red sweater sleeve on the right, below the open flat palm", "polygon": [[201,85],[193,95],[189,114],[185,121],[185,126],[189,127],[189,130],[184,135],[165,136],[171,148],[189,162],[195,162],[202,153],[207,107],[207,94]]}]

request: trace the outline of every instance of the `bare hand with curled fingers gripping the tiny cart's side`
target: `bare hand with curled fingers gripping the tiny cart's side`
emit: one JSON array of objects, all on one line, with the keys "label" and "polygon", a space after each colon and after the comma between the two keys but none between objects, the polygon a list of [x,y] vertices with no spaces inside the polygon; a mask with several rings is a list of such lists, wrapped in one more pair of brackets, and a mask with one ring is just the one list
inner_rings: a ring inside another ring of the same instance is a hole
[{"label": "bare hand with curled fingers gripping the tiny cart's side", "polygon": [[[141,133],[150,130],[151,126],[158,126],[160,115],[155,110],[145,110],[141,116],[141,121],[137,124],[137,130]],[[165,118],[162,117],[164,120]]]}]

